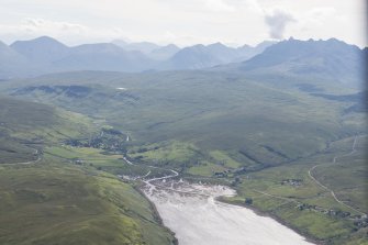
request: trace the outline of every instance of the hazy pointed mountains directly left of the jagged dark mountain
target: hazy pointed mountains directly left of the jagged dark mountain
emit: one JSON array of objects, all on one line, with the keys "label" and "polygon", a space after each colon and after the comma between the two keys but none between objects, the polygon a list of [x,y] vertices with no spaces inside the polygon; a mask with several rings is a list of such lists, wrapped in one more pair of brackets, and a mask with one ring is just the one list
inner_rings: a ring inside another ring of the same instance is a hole
[{"label": "hazy pointed mountains directly left of the jagged dark mountain", "polygon": [[222,43],[207,46],[198,44],[176,53],[166,62],[164,69],[202,69],[227,63],[243,62],[261,53],[267,46],[272,44],[268,42],[261,46],[250,47],[244,45],[238,48],[228,47]]}]

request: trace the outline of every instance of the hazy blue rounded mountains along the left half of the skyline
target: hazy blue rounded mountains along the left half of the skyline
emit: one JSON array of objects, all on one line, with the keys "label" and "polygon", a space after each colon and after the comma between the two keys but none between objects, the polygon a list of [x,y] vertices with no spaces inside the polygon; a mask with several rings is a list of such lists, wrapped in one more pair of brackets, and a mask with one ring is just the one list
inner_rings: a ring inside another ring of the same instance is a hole
[{"label": "hazy blue rounded mountains along the left half of the skyline", "polygon": [[[155,46],[156,47],[156,46]],[[0,45],[0,78],[29,77],[68,70],[142,71],[156,62],[137,51],[125,51],[111,43],[68,47],[42,36]]]}]

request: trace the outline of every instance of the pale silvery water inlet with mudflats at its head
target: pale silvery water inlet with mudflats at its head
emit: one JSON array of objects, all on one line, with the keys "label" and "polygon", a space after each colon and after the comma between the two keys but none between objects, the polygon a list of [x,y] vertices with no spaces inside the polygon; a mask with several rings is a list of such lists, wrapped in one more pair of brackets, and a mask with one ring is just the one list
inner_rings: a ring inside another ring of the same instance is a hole
[{"label": "pale silvery water inlet with mudflats at its head", "polygon": [[156,180],[144,191],[180,245],[312,244],[270,218],[214,200],[235,194],[230,188]]}]

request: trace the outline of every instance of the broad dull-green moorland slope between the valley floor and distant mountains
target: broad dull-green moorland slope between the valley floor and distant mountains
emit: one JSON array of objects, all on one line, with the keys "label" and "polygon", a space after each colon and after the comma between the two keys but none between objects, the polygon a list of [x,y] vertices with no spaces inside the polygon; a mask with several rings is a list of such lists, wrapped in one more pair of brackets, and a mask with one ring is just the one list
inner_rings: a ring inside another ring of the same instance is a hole
[{"label": "broad dull-green moorland slope between the valley floor and distant mountains", "polygon": [[[43,90],[19,91],[25,83],[82,85],[91,91],[82,97]],[[353,102],[316,98],[292,86],[276,88],[225,74],[76,73],[18,81],[12,86],[5,92],[107,119],[131,132],[135,141],[189,142],[203,151],[232,152],[245,165],[254,165],[253,158],[275,165],[308,156],[323,149],[327,142],[363,131],[365,126],[359,123],[361,120],[342,120],[344,109]],[[121,87],[126,90],[116,89]],[[326,93],[343,89],[336,88],[338,85],[325,87],[322,89]],[[239,151],[245,154],[236,154]]]}]

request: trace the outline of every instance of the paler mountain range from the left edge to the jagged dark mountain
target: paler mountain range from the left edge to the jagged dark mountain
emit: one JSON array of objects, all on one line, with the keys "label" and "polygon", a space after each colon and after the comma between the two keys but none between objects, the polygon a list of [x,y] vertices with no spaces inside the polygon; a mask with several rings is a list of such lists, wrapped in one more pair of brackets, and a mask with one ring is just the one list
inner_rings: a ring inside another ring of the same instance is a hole
[{"label": "paler mountain range from the left edge to the jagged dark mountain", "polygon": [[179,48],[175,44],[154,43],[82,44],[69,47],[57,40],[41,36],[0,43],[0,78],[32,77],[73,70],[138,73],[145,70],[201,69],[232,62],[246,60],[261,53],[272,42],[255,47],[233,48],[221,43]]}]

